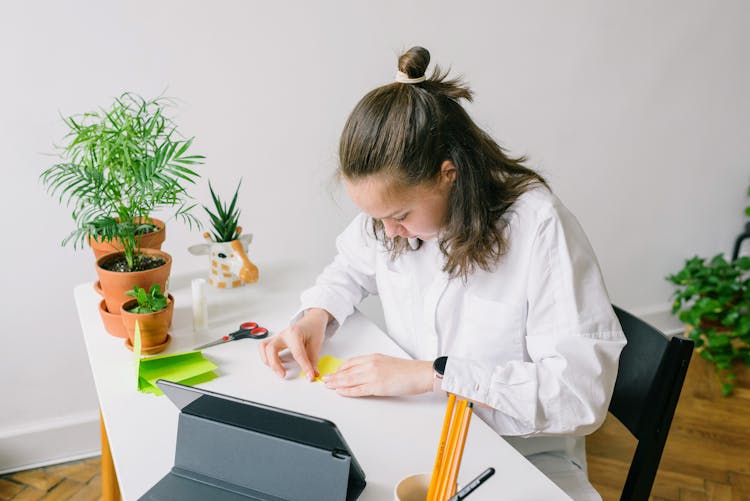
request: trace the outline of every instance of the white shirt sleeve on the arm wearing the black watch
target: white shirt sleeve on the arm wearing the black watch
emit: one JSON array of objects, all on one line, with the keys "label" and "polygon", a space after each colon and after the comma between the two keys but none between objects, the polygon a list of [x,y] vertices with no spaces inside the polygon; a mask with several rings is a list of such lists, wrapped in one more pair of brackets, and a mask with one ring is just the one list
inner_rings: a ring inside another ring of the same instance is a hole
[{"label": "white shirt sleeve on the arm wearing the black watch", "polygon": [[503,435],[585,435],[599,427],[625,337],[591,245],[564,207],[540,218],[528,267],[525,359],[449,357],[442,388],[491,407]]}]

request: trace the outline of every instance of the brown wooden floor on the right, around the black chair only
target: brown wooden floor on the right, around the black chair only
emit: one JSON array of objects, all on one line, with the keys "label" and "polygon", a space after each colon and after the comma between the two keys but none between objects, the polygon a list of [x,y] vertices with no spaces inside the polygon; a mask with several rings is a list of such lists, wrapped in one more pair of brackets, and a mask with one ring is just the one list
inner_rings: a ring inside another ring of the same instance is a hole
[{"label": "brown wooden floor on the right, around the black chair only", "polygon": [[[693,354],[651,499],[750,501],[750,370],[721,396],[713,366]],[[586,439],[589,478],[604,501],[620,499],[636,441],[612,415]]]}]

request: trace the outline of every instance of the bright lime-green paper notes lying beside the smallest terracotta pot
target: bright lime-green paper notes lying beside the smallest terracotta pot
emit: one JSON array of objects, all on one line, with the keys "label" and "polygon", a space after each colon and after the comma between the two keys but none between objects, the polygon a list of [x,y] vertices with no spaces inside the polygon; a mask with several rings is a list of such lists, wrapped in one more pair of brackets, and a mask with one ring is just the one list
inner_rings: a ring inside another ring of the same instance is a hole
[{"label": "bright lime-green paper notes lying beside the smallest terracotta pot", "polygon": [[205,359],[200,351],[141,357],[141,331],[138,322],[135,324],[133,338],[138,391],[162,395],[162,391],[156,386],[157,379],[193,386],[216,377],[213,372],[217,369],[216,365]]}]

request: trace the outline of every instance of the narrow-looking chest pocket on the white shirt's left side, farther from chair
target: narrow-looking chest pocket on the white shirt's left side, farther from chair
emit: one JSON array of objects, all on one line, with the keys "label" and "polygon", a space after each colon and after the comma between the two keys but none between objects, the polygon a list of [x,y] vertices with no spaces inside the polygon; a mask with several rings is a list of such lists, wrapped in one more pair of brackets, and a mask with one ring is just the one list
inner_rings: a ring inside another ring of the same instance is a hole
[{"label": "narrow-looking chest pocket on the white shirt's left side, farther from chair", "polygon": [[377,274],[378,294],[383,306],[388,335],[412,357],[417,352],[414,339],[416,283],[409,273],[384,268]]}]

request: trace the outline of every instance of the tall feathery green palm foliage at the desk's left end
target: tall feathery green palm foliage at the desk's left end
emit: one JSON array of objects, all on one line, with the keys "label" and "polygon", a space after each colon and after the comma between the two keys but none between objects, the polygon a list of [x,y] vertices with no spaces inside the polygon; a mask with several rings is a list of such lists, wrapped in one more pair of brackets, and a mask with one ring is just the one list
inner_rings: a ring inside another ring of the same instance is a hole
[{"label": "tall feathery green palm foliage at the desk's left end", "polygon": [[171,104],[125,93],[109,109],[63,118],[63,161],[40,175],[48,193],[73,211],[76,229],[63,245],[119,239],[128,268],[136,270],[137,235],[153,229],[153,212],[175,207],[174,217],[200,227],[183,184],[195,183],[199,175],[190,167],[204,157],[187,154],[193,139],[183,139],[165,115]]}]

